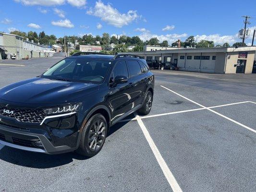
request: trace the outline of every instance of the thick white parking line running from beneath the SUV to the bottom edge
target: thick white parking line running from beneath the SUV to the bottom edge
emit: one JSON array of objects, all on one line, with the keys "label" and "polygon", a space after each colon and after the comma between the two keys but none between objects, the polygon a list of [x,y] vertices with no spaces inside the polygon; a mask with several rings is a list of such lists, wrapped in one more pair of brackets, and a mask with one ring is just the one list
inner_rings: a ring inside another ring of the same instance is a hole
[{"label": "thick white parking line running from beneath the SUV to the bottom edge", "polygon": [[156,144],[154,143],[153,139],[151,138],[149,132],[147,131],[144,123],[142,122],[141,118],[137,115],[134,114],[136,117],[136,120],[139,123],[139,126],[144,133],[144,136],[146,137],[146,141],[148,142],[152,152],[154,153],[159,166],[161,167],[166,179],[168,180],[169,184],[171,185],[171,189],[173,192],[182,192],[179,184],[177,183],[176,179],[174,178],[173,174],[171,173],[171,170],[168,168],[165,160],[163,159],[162,155],[160,154]]}]

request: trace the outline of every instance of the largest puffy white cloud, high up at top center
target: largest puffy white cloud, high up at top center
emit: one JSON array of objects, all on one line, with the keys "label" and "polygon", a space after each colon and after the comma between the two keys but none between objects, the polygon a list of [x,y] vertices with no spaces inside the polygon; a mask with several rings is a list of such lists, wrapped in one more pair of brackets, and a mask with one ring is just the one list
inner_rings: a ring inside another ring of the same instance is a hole
[{"label": "largest puffy white cloud, high up at top center", "polygon": [[87,14],[101,18],[102,21],[115,27],[121,28],[128,25],[140,16],[137,11],[130,10],[127,13],[120,13],[110,4],[105,5],[102,1],[97,1],[94,8],[90,8]]}]

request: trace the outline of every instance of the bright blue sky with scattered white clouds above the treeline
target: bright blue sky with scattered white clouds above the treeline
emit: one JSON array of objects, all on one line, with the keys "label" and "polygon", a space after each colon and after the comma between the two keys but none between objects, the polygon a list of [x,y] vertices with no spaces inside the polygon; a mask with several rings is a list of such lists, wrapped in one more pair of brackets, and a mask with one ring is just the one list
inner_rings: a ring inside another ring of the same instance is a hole
[{"label": "bright blue sky with scattered white clouds above the treeline", "polygon": [[[213,40],[240,41],[242,15],[256,28],[256,1],[252,0],[1,0],[0,31],[45,31],[57,37],[92,34],[158,37],[169,43]],[[251,31],[253,32],[253,31]],[[246,43],[251,42],[251,37]]]}]

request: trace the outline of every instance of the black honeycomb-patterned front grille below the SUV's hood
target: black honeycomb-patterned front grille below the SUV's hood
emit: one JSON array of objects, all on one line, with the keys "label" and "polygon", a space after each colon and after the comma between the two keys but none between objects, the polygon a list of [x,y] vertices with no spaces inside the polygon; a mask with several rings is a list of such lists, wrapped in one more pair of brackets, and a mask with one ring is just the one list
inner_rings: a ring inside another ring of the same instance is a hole
[{"label": "black honeycomb-patterned front grille below the SUV's hood", "polygon": [[40,123],[46,117],[42,109],[7,108],[0,105],[0,116],[25,123]]}]

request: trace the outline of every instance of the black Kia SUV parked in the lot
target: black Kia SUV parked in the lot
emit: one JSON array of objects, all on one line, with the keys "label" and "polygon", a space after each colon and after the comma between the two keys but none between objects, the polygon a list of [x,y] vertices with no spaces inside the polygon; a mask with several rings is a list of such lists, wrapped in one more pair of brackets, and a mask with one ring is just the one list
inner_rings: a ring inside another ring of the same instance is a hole
[{"label": "black Kia SUV parked in the lot", "polygon": [[27,151],[94,156],[109,128],[152,107],[154,74],[139,56],[79,55],[0,89],[0,143]]}]

